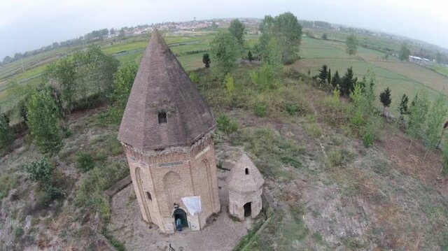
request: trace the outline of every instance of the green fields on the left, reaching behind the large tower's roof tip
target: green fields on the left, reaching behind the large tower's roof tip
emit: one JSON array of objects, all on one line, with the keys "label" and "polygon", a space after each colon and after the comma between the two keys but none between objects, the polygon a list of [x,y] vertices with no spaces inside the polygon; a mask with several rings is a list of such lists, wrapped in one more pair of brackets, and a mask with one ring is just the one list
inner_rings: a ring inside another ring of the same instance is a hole
[{"label": "green fields on the left, reaching behind the large tower's roof tip", "polygon": [[[148,43],[148,36],[148,34],[143,34],[125,38],[121,41],[102,41],[97,43],[97,45],[101,46],[106,54],[116,57],[121,64],[132,61],[139,64]],[[191,71],[202,67],[202,53],[209,50],[209,43],[213,37],[211,34],[202,36],[169,36],[167,34],[165,39],[172,51],[178,55],[179,62],[181,62],[186,71]],[[23,59],[23,69],[25,71],[22,71],[22,62],[20,61],[1,68],[0,106],[8,109],[15,103],[13,100],[8,99],[8,83],[17,82],[20,85],[38,85],[42,81],[41,75],[49,62],[81,49],[83,49],[83,46],[57,48],[27,57]]]}]

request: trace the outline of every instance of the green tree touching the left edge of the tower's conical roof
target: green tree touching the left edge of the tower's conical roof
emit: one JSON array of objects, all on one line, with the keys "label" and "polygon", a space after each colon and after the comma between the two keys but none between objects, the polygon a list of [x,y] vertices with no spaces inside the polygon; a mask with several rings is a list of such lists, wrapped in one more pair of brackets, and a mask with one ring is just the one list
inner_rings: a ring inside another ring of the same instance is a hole
[{"label": "green tree touching the left edge of the tower's conical roof", "polygon": [[120,108],[126,107],[127,98],[131,92],[138,70],[139,66],[137,64],[134,62],[126,62],[113,74],[114,90],[112,99]]}]

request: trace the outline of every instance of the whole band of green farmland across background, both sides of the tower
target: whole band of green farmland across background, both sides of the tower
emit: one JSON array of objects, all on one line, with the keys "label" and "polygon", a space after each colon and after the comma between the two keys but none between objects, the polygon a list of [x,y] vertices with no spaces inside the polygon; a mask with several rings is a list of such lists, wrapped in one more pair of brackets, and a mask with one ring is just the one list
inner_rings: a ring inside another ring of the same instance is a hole
[{"label": "whole band of green farmland across background, both sides of the tower", "polygon": [[[171,50],[178,56],[179,62],[186,69],[191,71],[202,67],[202,54],[209,50],[210,42],[214,38],[215,32],[199,31],[188,34],[165,34],[165,40]],[[108,55],[116,57],[121,64],[125,62],[140,62],[144,53],[148,34],[132,36],[121,40],[113,39],[98,42],[97,45]],[[314,36],[320,37],[319,31],[314,32]],[[448,69],[444,66],[431,66],[428,69],[412,63],[402,63],[397,58],[389,56],[384,59],[384,52],[368,48],[358,47],[358,54],[350,57],[345,52],[344,36],[346,34],[332,32],[328,34],[329,41],[304,37],[300,49],[301,59],[292,66],[301,73],[311,72],[316,75],[318,69],[327,64],[332,73],[339,71],[343,75],[347,68],[353,66],[353,71],[358,76],[362,76],[367,69],[373,69],[377,73],[379,85],[377,92],[386,87],[392,89],[393,103],[391,112],[396,113],[398,99],[402,94],[412,97],[417,90],[428,88],[430,97],[434,98],[438,94],[448,94]],[[379,38],[360,36],[360,42],[368,44],[370,47],[390,45],[395,48],[397,45],[393,41],[384,41]],[[253,47],[258,41],[258,36],[249,35],[246,37],[246,44]],[[41,83],[41,75],[45,71],[48,62],[69,55],[76,50],[82,50],[83,46],[73,46],[69,48],[57,48],[48,52],[43,52],[33,57],[23,59],[25,71],[22,71],[22,62],[14,62],[0,69],[0,106],[9,108],[15,101],[8,99],[8,83],[18,82],[21,85],[38,85]]]}]

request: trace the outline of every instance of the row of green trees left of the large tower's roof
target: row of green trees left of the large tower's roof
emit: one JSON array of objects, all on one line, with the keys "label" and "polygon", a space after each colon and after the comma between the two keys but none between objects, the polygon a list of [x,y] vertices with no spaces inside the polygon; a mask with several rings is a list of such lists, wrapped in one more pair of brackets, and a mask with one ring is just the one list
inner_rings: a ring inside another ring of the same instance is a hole
[{"label": "row of green trees left of the large tower's roof", "polygon": [[[22,116],[34,144],[42,153],[58,152],[69,134],[65,116],[73,109],[110,100],[123,114],[137,68],[137,64],[127,63],[118,69],[118,61],[98,47],[48,65],[45,84],[18,92],[18,96],[25,94]],[[14,140],[8,122],[8,116],[0,116],[1,148],[8,148]]]}]

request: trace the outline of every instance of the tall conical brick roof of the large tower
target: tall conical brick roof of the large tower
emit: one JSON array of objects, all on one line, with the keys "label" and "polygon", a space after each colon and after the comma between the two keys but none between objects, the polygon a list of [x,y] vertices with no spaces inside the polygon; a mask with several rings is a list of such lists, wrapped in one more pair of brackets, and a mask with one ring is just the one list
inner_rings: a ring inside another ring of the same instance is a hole
[{"label": "tall conical brick roof of the large tower", "polygon": [[[159,123],[159,113],[167,122]],[[209,106],[154,31],[127,101],[118,140],[139,150],[191,145],[215,127]]]}]

